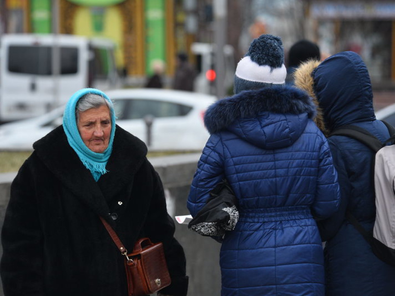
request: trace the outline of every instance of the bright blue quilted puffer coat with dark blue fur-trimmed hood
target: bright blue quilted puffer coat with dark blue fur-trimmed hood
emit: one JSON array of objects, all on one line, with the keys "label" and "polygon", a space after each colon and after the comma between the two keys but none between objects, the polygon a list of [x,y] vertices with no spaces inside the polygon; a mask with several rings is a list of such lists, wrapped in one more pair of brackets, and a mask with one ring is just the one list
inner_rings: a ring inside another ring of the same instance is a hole
[{"label": "bright blue quilted puffer coat with dark blue fur-trimmed hood", "polygon": [[339,185],[311,98],[292,87],[241,92],[209,107],[211,136],[188,197],[192,216],[226,177],[240,219],[222,244],[222,296],[324,295],[314,217],[332,215]]}]

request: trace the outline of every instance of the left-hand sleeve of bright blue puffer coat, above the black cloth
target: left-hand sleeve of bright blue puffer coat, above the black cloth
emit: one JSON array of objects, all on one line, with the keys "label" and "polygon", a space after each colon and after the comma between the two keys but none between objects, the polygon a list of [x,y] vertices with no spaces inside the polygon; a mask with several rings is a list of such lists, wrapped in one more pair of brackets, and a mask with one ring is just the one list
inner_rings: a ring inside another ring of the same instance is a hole
[{"label": "left-hand sleeve of bright blue puffer coat, above the black cloth", "polygon": [[209,199],[210,191],[224,177],[223,148],[219,134],[213,134],[198,162],[190,187],[187,208],[194,217]]}]

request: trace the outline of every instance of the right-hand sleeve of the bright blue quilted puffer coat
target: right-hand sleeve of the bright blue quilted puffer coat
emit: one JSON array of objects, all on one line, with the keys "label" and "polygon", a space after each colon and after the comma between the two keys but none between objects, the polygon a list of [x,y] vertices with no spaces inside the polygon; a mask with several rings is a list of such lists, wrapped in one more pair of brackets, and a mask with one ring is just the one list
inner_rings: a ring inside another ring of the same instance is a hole
[{"label": "right-hand sleeve of the bright blue quilted puffer coat", "polygon": [[340,187],[337,172],[333,165],[329,144],[325,139],[320,149],[318,184],[312,212],[317,219],[333,215],[339,208]]}]

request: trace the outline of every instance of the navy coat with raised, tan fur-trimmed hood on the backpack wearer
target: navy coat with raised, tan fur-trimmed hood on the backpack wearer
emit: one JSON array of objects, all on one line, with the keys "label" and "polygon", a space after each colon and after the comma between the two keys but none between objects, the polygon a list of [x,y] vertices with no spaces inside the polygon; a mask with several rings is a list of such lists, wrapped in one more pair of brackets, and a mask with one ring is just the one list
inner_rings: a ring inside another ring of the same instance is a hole
[{"label": "navy coat with raised, tan fur-trimmed hood on the backpack wearer", "polygon": [[[315,96],[324,115],[325,134],[352,124],[380,141],[389,138],[387,127],[374,115],[368,69],[355,52],[302,64],[295,71],[295,85]],[[395,267],[378,259],[346,218],[349,211],[365,230],[373,230],[376,206],[370,164],[374,152],[349,137],[334,135],[328,141],[339,174],[341,201],[335,215],[319,221],[326,241],[326,295],[393,296]]]}]

